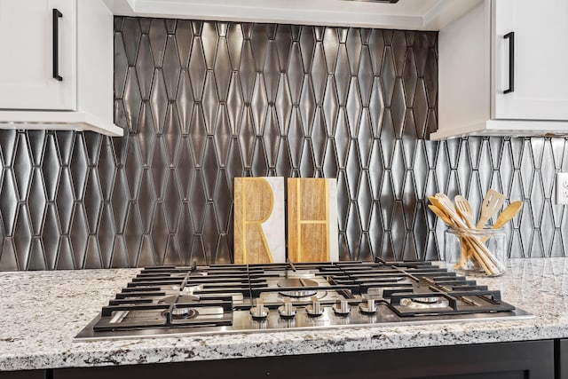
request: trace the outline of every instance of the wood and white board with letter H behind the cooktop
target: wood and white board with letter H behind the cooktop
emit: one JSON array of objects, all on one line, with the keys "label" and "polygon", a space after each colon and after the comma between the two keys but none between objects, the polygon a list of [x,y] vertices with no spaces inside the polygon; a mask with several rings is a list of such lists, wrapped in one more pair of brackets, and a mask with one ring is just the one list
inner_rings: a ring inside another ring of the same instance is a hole
[{"label": "wood and white board with letter H behind the cooktop", "polygon": [[335,179],[288,178],[288,259],[339,260]]}]

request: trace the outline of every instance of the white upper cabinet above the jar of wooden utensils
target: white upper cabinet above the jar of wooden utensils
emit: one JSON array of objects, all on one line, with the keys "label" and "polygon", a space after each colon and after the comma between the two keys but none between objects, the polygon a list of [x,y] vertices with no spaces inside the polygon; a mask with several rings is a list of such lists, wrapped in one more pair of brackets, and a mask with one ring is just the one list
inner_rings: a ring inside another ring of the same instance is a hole
[{"label": "white upper cabinet above the jar of wooden utensils", "polygon": [[568,134],[568,2],[485,0],[440,30],[438,131]]}]

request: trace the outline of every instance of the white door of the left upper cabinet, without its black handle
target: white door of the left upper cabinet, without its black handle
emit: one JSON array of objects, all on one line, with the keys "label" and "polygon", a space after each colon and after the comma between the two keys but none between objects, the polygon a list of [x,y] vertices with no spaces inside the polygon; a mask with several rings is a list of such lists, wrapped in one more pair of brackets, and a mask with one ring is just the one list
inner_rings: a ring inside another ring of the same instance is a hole
[{"label": "white door of the left upper cabinet, without its black handle", "polygon": [[[75,6],[74,0],[0,0],[1,109],[75,109]],[[62,15],[56,20],[58,73],[54,9]]]}]

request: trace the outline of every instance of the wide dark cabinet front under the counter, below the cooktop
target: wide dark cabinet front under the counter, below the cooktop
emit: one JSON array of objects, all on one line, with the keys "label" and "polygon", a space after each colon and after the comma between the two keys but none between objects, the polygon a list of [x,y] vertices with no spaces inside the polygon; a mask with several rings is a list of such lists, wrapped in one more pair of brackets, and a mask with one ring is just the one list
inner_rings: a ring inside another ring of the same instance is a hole
[{"label": "wide dark cabinet front under the counter, below the cooktop", "polygon": [[[568,354],[568,345],[564,355]],[[559,342],[556,341],[556,348]],[[290,351],[292,352],[292,351]],[[558,351],[556,351],[556,357]],[[556,367],[558,364],[556,363]],[[255,359],[52,370],[53,379],[461,378],[555,379],[555,341],[487,343]],[[0,375],[0,379],[4,379]]]}]

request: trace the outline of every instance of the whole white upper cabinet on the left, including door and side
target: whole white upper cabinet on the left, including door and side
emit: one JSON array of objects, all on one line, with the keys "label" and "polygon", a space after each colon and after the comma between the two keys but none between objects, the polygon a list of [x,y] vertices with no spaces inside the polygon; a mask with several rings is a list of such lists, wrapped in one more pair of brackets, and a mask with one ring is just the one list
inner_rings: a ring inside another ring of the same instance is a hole
[{"label": "whole white upper cabinet on the left, including door and side", "polygon": [[100,0],[0,0],[0,128],[113,122],[113,14]]}]

